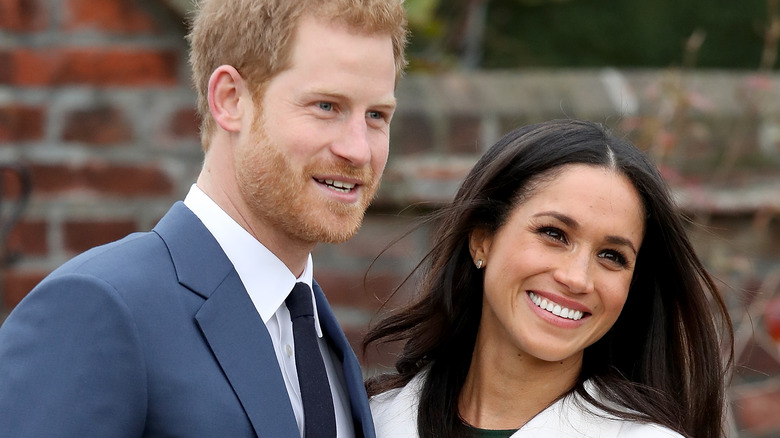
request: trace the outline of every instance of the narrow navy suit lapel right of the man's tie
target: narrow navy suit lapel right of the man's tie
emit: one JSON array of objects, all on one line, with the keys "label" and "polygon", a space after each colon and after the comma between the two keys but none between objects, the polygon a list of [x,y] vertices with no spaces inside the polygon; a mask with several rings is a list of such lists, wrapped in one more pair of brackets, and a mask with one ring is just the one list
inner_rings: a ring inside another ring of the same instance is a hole
[{"label": "narrow navy suit lapel right of the man's tie", "polygon": [[374,438],[374,422],[371,419],[371,408],[368,405],[366,388],[363,385],[363,373],[355,352],[347,341],[344,331],[341,330],[333,310],[325,298],[320,286],[314,282],[314,297],[317,300],[317,315],[320,320],[323,333],[331,341],[331,346],[336,352],[344,372],[344,380],[349,394],[349,404],[352,419],[355,422],[355,434],[365,438]]}]

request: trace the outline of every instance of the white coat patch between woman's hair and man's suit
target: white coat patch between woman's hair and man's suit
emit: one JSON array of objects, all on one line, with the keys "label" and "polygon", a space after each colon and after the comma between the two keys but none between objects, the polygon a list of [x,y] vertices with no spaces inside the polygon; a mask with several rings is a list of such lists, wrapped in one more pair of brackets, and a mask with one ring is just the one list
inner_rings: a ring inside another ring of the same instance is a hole
[{"label": "white coat patch between woman's hair and man's suit", "polygon": [[405,386],[369,399],[377,437],[417,436],[417,407],[424,380],[424,373],[419,373]]}]

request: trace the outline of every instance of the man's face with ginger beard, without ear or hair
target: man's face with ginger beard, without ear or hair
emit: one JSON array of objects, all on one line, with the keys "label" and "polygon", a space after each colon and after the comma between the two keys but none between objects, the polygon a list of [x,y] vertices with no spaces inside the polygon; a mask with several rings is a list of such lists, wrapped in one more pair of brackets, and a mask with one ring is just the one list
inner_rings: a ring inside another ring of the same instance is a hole
[{"label": "man's face with ginger beard, without ear or hair", "polygon": [[236,178],[250,214],[278,238],[342,242],[360,226],[387,162],[391,39],[305,18],[291,55],[239,140]]}]

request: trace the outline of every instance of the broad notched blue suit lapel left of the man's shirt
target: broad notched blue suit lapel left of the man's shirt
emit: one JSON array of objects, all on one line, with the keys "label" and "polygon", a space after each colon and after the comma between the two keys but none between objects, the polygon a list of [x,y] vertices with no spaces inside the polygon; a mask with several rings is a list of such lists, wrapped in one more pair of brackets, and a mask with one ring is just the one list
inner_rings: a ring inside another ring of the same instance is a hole
[{"label": "broad notched blue suit lapel left of the man's shirt", "polygon": [[238,273],[192,211],[177,202],[155,227],[179,282],[206,301],[195,319],[258,436],[298,436],[271,337]]}]

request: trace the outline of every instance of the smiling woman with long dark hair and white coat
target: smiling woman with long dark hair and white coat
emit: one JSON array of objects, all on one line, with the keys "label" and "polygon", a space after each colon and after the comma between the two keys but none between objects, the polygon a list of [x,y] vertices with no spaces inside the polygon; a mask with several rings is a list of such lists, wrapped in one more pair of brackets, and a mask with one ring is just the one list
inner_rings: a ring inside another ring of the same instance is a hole
[{"label": "smiling woman with long dark hair and white coat", "polygon": [[731,322],[639,150],[523,127],[435,218],[419,298],[364,341],[404,342],[367,382],[379,437],[722,435]]}]

